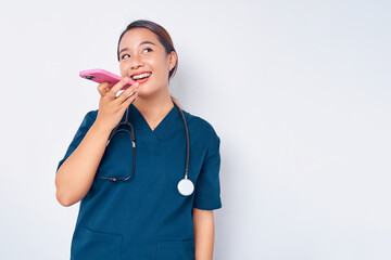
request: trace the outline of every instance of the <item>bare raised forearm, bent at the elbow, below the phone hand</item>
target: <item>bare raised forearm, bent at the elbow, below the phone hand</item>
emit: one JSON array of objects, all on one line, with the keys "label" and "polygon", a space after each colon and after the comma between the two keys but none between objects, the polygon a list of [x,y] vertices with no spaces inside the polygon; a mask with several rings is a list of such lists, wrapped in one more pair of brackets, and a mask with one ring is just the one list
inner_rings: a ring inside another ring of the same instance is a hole
[{"label": "bare raised forearm, bent at the elbow, below the phone hand", "polygon": [[109,135],[108,129],[93,123],[77,148],[61,165],[55,174],[55,196],[61,205],[74,205],[87,194]]}]

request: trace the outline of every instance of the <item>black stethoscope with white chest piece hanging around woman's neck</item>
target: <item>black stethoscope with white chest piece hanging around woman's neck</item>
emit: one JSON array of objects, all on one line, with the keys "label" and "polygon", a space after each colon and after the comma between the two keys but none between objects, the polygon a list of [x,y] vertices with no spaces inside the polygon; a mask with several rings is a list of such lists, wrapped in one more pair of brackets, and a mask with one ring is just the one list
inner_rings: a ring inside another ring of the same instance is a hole
[{"label": "black stethoscope with white chest piece hanging around woman's neck", "polygon": [[[189,141],[189,131],[188,131],[188,128],[187,128],[187,123],[186,123],[186,119],[185,119],[185,115],[184,113],[181,112],[181,109],[177,106],[177,104],[175,104],[175,102],[173,102],[175,107],[178,109],[181,118],[182,118],[182,121],[184,121],[184,126],[185,126],[185,132],[186,132],[186,168],[185,168],[185,178],[181,179],[179,182],[178,182],[178,191],[181,195],[184,196],[189,196],[193,193],[194,191],[194,184],[192,183],[192,181],[189,179],[189,155],[190,155],[190,141]],[[112,182],[119,182],[119,181],[127,181],[129,180],[134,173],[135,173],[135,164],[136,164],[136,138],[135,138],[135,130],[134,130],[134,127],[133,125],[130,123],[129,121],[129,109],[130,109],[130,106],[128,106],[126,108],[126,119],[125,119],[125,122],[121,121],[113,130],[112,132],[110,133],[109,135],[109,140],[108,140],[108,143],[106,143],[106,147],[110,143],[110,141],[113,139],[113,136],[121,132],[121,131],[125,131],[127,133],[130,134],[130,139],[131,139],[131,146],[133,146],[133,166],[131,166],[131,173],[125,178],[125,179],[121,179],[121,178],[114,178],[114,177],[101,177],[101,176],[97,176],[97,178],[99,179],[102,179],[102,180],[109,180],[109,181],[112,181]],[[122,127],[130,127],[130,131],[127,130],[126,128],[122,128]]]}]

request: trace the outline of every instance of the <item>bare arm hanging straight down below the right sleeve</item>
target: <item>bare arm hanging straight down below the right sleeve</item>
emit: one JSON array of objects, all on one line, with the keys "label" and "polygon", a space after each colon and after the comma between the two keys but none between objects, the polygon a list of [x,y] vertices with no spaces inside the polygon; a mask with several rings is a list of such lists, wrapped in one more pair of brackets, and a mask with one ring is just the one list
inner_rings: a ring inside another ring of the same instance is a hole
[{"label": "bare arm hanging straight down below the right sleeve", "polygon": [[193,208],[195,260],[212,260],[214,217],[212,210]]}]

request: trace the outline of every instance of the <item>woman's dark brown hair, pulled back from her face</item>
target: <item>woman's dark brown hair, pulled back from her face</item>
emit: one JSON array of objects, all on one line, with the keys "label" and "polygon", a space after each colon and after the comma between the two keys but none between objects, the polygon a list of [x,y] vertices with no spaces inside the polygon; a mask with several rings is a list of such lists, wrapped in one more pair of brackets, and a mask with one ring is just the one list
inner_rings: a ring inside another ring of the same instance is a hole
[{"label": "woman's dark brown hair, pulled back from her face", "polygon": [[[153,23],[151,21],[148,20],[137,20],[135,22],[131,22],[126,29],[121,34],[119,39],[118,39],[118,46],[117,46],[117,60],[119,62],[119,42],[123,38],[123,36],[125,35],[126,31],[133,29],[133,28],[146,28],[149,29],[150,31],[154,32],[157,36],[159,41],[163,44],[165,51],[167,54],[169,54],[172,51],[175,51],[175,53],[177,54],[175,48],[174,48],[174,43],[173,40],[171,38],[171,36],[168,35],[167,30],[164,29],[161,25]],[[172,68],[172,70],[169,70],[168,74],[168,81],[171,78],[174,77],[176,70],[178,67],[178,54],[177,54],[177,61],[175,66]],[[175,99],[174,96],[171,96],[173,102],[175,104],[178,104],[178,100]],[[179,105],[179,104],[178,104]]]}]

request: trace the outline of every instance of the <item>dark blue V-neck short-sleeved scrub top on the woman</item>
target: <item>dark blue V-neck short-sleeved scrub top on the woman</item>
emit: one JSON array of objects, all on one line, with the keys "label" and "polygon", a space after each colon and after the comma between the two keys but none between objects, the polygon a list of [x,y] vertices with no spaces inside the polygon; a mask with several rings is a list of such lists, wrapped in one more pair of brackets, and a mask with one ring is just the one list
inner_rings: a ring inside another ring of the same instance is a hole
[{"label": "dark blue V-neck short-sleeved scrub top on the woman", "polygon": [[[79,205],[71,259],[194,259],[193,207],[222,207],[219,138],[206,120],[182,112],[190,138],[193,194],[186,197],[177,188],[186,166],[186,133],[177,108],[174,106],[152,131],[131,104],[135,174],[126,182],[94,178]],[[98,109],[87,113],[58,169],[77,148],[97,115]],[[97,174],[124,179],[130,174],[131,164],[130,135],[118,132],[106,147]]]}]

